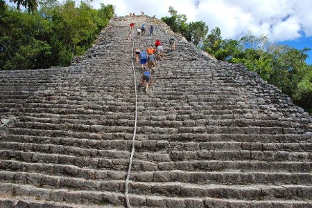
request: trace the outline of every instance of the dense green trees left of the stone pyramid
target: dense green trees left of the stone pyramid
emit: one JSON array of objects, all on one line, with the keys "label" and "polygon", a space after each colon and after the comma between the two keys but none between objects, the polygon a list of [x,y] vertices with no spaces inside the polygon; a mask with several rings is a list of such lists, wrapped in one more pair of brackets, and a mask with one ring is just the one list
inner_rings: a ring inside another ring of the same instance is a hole
[{"label": "dense green trees left of the stone pyramid", "polygon": [[[90,48],[114,15],[112,5],[95,10],[88,2],[13,0],[17,9],[0,9],[0,69],[68,66]],[[39,5],[40,9],[37,10]],[[27,11],[21,12],[19,6]]]}]

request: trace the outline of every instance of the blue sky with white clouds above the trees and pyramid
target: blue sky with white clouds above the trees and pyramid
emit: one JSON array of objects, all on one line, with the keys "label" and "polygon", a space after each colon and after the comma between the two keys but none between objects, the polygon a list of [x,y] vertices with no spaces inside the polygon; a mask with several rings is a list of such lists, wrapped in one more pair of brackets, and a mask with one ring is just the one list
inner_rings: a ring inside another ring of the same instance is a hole
[{"label": "blue sky with white clouds above the trees and pyramid", "polygon": [[[9,0],[5,0],[9,3]],[[59,0],[63,1],[63,0]],[[80,0],[75,0],[77,5]],[[85,0],[87,1],[87,0]],[[169,6],[189,22],[205,21],[209,31],[216,26],[223,39],[239,39],[248,32],[266,35],[270,42],[297,49],[312,48],[312,0],[89,0],[94,8],[112,4],[118,16],[144,11],[157,18],[169,17]],[[9,3],[12,5],[12,3]],[[308,64],[312,64],[312,50]]]}]

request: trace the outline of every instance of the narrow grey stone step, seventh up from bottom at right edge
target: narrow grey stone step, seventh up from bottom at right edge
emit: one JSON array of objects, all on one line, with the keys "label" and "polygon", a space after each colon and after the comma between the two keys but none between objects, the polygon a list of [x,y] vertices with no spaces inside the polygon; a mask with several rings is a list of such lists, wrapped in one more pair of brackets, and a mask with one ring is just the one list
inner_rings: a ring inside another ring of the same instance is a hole
[{"label": "narrow grey stone step, seventh up from bottom at right edge", "polygon": [[[131,128],[130,126],[128,127]],[[133,127],[132,127],[133,128]],[[173,128],[171,128],[173,129]],[[133,129],[132,129],[133,130]],[[169,142],[268,142],[268,143],[283,143],[283,142],[299,142],[311,143],[310,134],[231,134],[231,133],[159,133],[151,130],[150,127],[142,127],[141,131],[144,134],[137,134],[137,140],[167,140]],[[174,130],[174,129],[173,129]],[[148,134],[146,134],[148,133]],[[72,131],[52,131],[40,129],[20,129],[10,128],[8,134],[12,135],[30,135],[30,136],[44,136],[51,138],[83,138],[91,140],[130,140],[132,138],[132,131],[125,133],[85,133],[85,132],[72,132]]]}]

